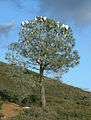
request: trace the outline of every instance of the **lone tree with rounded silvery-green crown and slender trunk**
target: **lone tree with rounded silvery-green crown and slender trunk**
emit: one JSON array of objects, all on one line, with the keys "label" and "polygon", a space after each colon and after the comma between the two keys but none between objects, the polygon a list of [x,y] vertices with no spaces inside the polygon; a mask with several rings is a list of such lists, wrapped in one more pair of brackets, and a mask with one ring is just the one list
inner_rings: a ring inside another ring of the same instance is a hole
[{"label": "lone tree with rounded silvery-green crown and slender trunk", "polygon": [[40,71],[42,106],[45,106],[43,73],[46,70],[65,73],[79,64],[80,57],[74,47],[75,39],[68,25],[38,16],[34,21],[22,22],[19,41],[9,45],[6,58],[15,65]]}]

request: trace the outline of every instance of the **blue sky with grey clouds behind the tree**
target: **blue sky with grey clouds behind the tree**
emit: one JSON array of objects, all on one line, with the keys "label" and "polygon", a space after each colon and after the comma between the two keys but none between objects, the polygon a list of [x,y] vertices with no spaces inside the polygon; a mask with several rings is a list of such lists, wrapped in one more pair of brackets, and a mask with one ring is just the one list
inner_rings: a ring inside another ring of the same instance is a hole
[{"label": "blue sky with grey clouds behind the tree", "polygon": [[91,0],[0,0],[0,61],[7,63],[5,53],[10,43],[18,41],[21,22],[36,16],[46,16],[71,27],[80,64],[61,80],[91,91]]}]

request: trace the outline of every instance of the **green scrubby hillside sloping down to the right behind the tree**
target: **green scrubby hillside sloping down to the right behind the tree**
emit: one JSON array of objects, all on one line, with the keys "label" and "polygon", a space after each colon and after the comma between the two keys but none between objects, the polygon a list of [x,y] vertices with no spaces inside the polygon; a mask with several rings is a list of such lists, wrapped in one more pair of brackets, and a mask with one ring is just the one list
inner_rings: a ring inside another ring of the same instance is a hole
[{"label": "green scrubby hillside sloping down to the right behind the tree", "polygon": [[38,75],[0,62],[1,99],[31,106],[11,120],[91,120],[90,92],[47,77],[44,77],[47,107],[41,108],[40,89],[34,83]]}]

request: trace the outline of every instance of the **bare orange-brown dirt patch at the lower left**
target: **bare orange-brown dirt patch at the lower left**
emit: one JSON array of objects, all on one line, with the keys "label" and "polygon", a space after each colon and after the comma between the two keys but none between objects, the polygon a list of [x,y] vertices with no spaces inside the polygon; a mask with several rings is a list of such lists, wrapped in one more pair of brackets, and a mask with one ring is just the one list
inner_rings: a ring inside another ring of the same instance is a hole
[{"label": "bare orange-brown dirt patch at the lower left", "polygon": [[4,115],[3,120],[14,117],[22,111],[22,107],[14,103],[4,103],[0,112]]}]

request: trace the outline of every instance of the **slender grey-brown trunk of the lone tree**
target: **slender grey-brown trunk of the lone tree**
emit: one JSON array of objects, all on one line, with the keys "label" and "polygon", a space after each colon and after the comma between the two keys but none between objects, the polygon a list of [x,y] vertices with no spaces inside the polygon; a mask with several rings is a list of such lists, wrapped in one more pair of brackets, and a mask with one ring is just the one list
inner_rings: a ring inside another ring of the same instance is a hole
[{"label": "slender grey-brown trunk of the lone tree", "polygon": [[40,65],[40,93],[41,93],[42,107],[45,107],[46,99],[45,99],[45,89],[43,86],[43,68],[41,65]]}]

